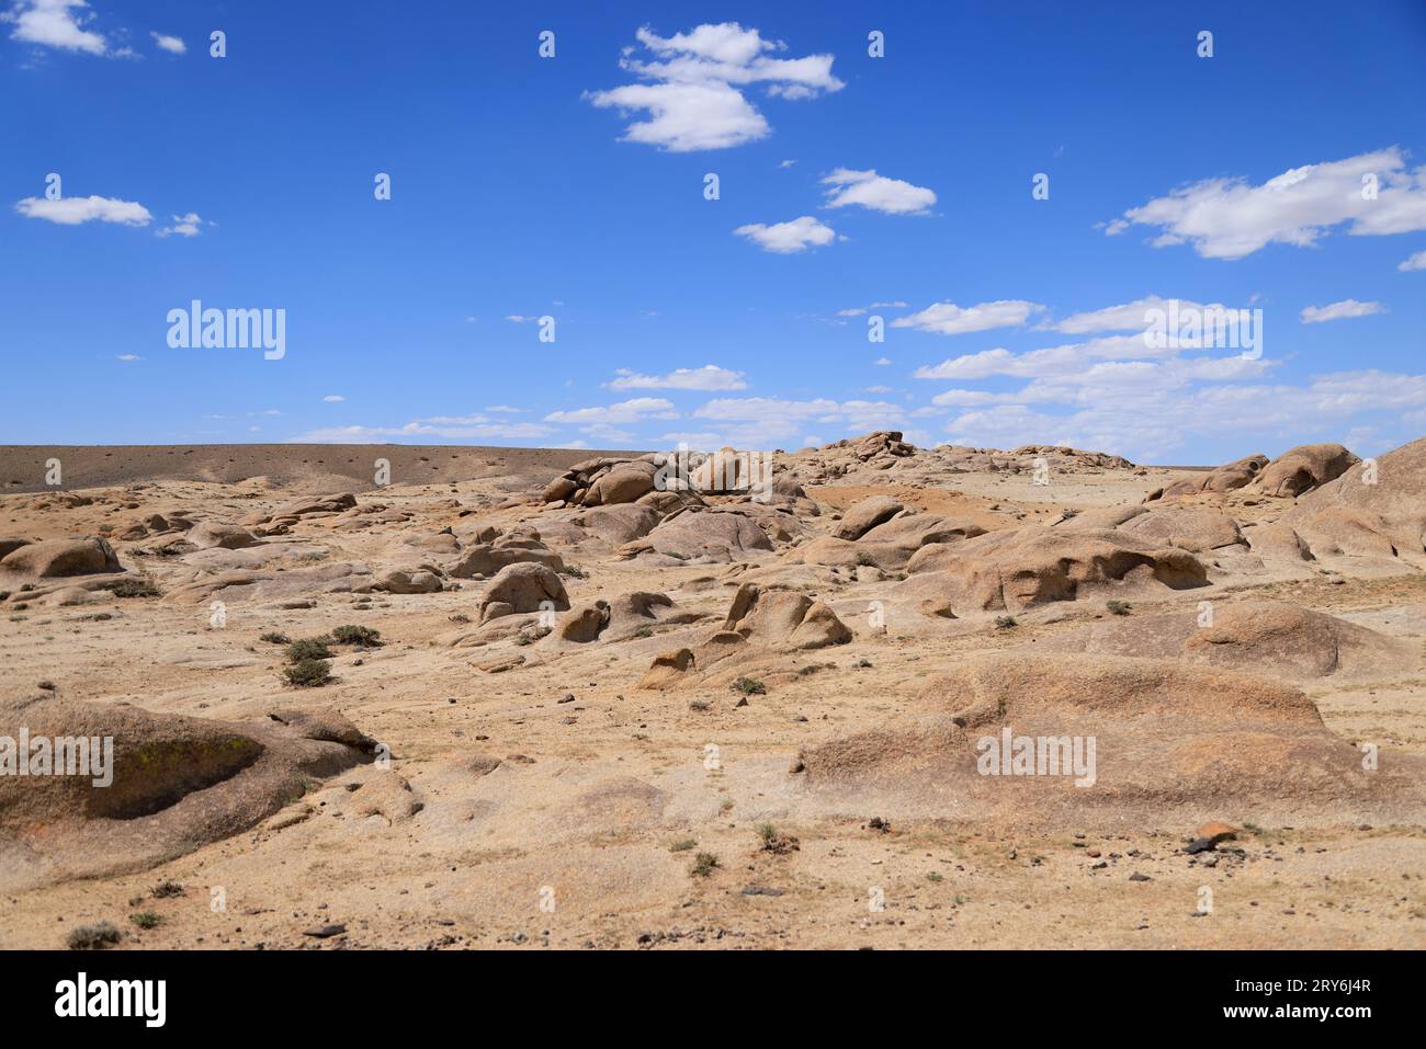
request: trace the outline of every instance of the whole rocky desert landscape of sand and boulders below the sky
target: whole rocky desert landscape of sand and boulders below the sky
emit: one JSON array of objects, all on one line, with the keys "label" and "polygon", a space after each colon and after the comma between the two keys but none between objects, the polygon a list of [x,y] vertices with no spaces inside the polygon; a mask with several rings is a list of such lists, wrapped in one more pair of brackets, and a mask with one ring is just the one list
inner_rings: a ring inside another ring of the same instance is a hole
[{"label": "whole rocky desert landscape of sand and boulders below the sky", "polygon": [[0,948],[1426,944],[1426,439],[759,462],[0,449]]}]

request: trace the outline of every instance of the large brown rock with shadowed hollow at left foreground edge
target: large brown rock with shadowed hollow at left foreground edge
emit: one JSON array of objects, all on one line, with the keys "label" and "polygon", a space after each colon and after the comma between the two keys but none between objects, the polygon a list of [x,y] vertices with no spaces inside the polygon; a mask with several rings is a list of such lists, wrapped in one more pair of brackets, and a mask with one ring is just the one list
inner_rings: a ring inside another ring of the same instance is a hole
[{"label": "large brown rock with shadowed hollow at left foreground edge", "polygon": [[[311,780],[369,760],[372,743],[339,714],[284,717],[235,724],[56,697],[0,703],[0,738],[29,735],[31,772],[39,740],[74,743],[50,764],[56,772],[70,768],[70,754],[90,753],[90,774],[0,775],[0,887],[147,869],[238,834]],[[0,751],[0,763],[19,757]]]}]

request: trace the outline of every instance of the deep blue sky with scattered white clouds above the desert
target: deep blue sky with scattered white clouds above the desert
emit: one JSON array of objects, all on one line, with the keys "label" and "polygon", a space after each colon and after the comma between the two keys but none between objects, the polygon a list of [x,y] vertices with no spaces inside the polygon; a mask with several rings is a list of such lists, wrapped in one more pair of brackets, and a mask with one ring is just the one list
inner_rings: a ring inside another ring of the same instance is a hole
[{"label": "deep blue sky with scattered white clouds above the desert", "polygon": [[[1426,432],[1419,0],[0,6],[0,442]],[[1148,349],[1168,299],[1261,353]]]}]

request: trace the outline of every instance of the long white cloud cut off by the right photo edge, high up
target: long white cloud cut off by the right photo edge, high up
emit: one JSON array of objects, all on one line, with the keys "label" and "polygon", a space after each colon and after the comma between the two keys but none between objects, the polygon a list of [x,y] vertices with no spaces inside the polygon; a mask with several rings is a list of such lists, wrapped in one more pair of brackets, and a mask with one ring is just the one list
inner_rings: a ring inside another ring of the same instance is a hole
[{"label": "long white cloud cut off by the right photo edge, high up", "polygon": [[[1375,197],[1363,178],[1376,180]],[[1251,185],[1208,178],[1129,208],[1105,227],[1158,227],[1155,247],[1191,244],[1204,258],[1243,258],[1269,244],[1308,247],[1333,227],[1355,237],[1426,229],[1426,167],[1406,168],[1397,147],[1308,164]]]}]

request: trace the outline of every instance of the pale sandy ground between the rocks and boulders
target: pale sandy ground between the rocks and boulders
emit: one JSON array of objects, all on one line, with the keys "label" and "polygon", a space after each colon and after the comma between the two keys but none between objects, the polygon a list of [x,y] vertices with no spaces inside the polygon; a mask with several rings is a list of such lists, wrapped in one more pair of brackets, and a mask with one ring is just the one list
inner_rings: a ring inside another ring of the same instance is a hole
[{"label": "pale sandy ground between the rocks and boulders", "polygon": [[[379,492],[354,483],[381,452],[148,449],[135,459],[121,449],[64,449],[66,489],[114,499],[36,509],[33,497],[7,495],[0,533],[94,534],[106,522],[171,507],[235,520],[295,490],[345,489],[414,516],[351,534],[304,523],[284,539],[322,557],[375,559],[402,532],[461,523],[462,507],[482,520],[539,526],[548,510],[498,509],[498,500],[590,455],[412,448],[395,476],[419,476],[412,470],[429,465],[431,483]],[[165,472],[174,455],[198,455],[202,463]],[[43,450],[6,449],[0,466],[10,486],[3,490],[43,490],[30,475],[44,458]],[[1025,476],[975,473],[944,487],[858,477],[809,486],[809,495],[829,513],[868,493],[891,493],[927,512],[1012,527],[1065,509],[1135,503],[1166,476],[1070,475],[1050,487]],[[124,492],[130,482],[143,487]],[[125,566],[167,587],[174,566],[135,552],[151,543],[116,546]],[[726,613],[733,593],[727,566],[563,554],[588,573],[565,579],[576,604],[660,591],[706,624]],[[369,767],[314,781],[277,817],[154,869],[4,894],[0,946],[61,946],[71,928],[98,919],[125,929],[118,949],[1426,946],[1422,820],[1308,825],[1291,814],[1205,810],[1171,825],[1042,834],[1014,822],[894,817],[880,827],[873,820],[880,811],[836,811],[799,792],[787,770],[801,744],[878,725],[963,653],[1050,639],[1105,614],[1102,603],[1065,603],[1055,614],[1022,617],[1012,640],[985,623],[890,624],[878,633],[863,626],[858,610],[880,586],[848,579],[819,593],[854,640],[797,654],[806,671],[747,697],[746,706],[726,687],[635,687],[655,654],[676,647],[667,634],[684,626],[558,650],[436,644],[461,617],[478,619],[478,580],[442,593],[371,594],[359,610],[352,604],[362,597],[348,593],[317,593],[309,609],[238,601],[221,629],[210,626],[205,603],[104,594],[80,607],[16,611],[11,601],[0,619],[7,693],[48,681],[71,698],[234,721],[279,706],[331,706],[389,745],[394,771],[424,808],[396,817],[352,811],[344,798],[375,774]],[[1419,573],[1224,587],[1224,600],[1263,594],[1417,648],[1426,639],[1426,577]],[[1174,593],[1137,601],[1135,614],[1192,609],[1198,600]],[[258,640],[267,631],[311,637],[344,623],[378,629],[385,644],[344,650],[332,667],[337,680],[324,688],[285,686],[281,650]],[[478,668],[496,650],[526,661],[505,673]],[[1383,760],[1426,755],[1426,673],[1419,667],[1383,680],[1323,678],[1306,691],[1329,728],[1349,740],[1379,740]],[[502,764],[478,777],[466,767],[473,754]],[[1196,822],[1209,820],[1245,828],[1235,842],[1241,858],[1226,854],[1205,867],[1182,852]],[[796,838],[796,848],[764,849],[764,822]],[[704,852],[716,865],[702,875],[693,868]],[[183,892],[155,896],[165,881]],[[1206,914],[1205,899],[1212,901]],[[161,922],[135,928],[128,916],[138,911]],[[307,935],[322,925],[344,931]]]}]

